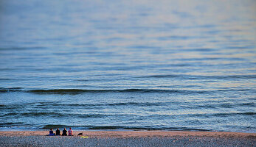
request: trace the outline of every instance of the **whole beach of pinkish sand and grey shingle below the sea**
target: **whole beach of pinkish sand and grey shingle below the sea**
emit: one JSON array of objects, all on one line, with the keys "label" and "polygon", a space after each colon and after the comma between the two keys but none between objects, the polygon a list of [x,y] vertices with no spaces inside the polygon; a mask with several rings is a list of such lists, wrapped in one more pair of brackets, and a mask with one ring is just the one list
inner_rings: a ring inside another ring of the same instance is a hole
[{"label": "whole beach of pinkish sand and grey shingle below the sea", "polygon": [[[82,132],[83,137],[77,136]],[[48,131],[1,131],[1,146],[256,146],[255,133],[167,131],[76,131],[74,136],[45,136]]]}]

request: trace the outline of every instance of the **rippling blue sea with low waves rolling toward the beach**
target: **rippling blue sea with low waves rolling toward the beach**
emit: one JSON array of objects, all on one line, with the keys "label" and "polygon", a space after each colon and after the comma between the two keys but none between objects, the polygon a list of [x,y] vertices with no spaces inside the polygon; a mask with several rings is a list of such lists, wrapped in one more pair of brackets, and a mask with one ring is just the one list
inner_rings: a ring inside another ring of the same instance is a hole
[{"label": "rippling blue sea with low waves rolling toward the beach", "polygon": [[256,132],[255,8],[0,1],[0,129]]}]

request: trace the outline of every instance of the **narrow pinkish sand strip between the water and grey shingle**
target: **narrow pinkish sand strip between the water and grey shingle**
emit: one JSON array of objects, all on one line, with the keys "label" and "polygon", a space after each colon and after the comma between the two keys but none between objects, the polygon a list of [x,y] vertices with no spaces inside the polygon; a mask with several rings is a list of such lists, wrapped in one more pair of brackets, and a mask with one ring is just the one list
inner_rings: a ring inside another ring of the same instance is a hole
[{"label": "narrow pinkish sand strip between the water and grey shingle", "polygon": [[[55,132],[55,129],[54,129]],[[60,133],[62,130],[60,129]],[[73,136],[77,137],[78,133],[88,137],[253,137],[256,133],[247,132],[186,132],[186,131],[143,131],[143,130],[74,130]],[[0,130],[0,136],[45,136],[49,130]],[[56,136],[59,137],[59,136]]]}]

